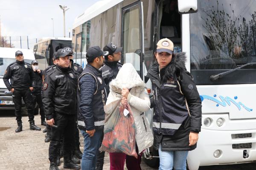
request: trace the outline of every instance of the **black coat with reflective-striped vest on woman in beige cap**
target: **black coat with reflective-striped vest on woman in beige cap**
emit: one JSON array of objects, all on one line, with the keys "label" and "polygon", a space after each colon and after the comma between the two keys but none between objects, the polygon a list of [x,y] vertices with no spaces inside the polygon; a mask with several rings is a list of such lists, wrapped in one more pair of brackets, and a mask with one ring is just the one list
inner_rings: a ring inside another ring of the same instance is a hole
[{"label": "black coat with reflective-striped vest on woman in beige cap", "polygon": [[148,77],[152,82],[151,98],[154,147],[158,150],[193,150],[189,133],[201,131],[201,99],[191,74],[185,68],[186,55],[173,55],[172,61],[160,70],[157,62],[151,65]]}]

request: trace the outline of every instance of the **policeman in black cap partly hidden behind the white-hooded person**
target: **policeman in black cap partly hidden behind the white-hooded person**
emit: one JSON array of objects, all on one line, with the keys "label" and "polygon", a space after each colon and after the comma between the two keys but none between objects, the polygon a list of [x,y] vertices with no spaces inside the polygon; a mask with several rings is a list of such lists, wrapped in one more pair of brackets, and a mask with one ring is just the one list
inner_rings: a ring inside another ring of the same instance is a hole
[{"label": "policeman in black cap partly hidden behind the white-hooded person", "polygon": [[[116,47],[112,43],[108,43],[103,48],[103,51],[108,51],[108,56],[105,56],[105,63],[99,70],[102,71],[102,77],[106,83],[107,94],[109,94],[109,83],[116,78],[122,64],[119,62],[121,58],[122,47]],[[103,140],[104,135],[102,135]],[[97,155],[96,170],[102,170],[104,164],[105,152],[100,152]]]}]

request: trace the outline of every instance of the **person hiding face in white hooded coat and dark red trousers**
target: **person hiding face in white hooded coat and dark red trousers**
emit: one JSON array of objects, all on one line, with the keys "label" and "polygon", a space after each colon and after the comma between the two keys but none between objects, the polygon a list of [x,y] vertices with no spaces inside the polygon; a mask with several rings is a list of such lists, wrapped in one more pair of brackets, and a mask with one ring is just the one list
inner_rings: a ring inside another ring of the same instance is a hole
[{"label": "person hiding face in white hooded coat and dark red trousers", "polygon": [[138,159],[126,156],[124,153],[110,153],[110,170],[123,170],[125,158],[128,170],[141,170],[140,153],[153,145],[153,133],[145,116],[145,111],[150,108],[150,99],[145,83],[134,66],[131,63],[125,63],[119,70],[116,79],[110,82],[109,87],[110,93],[104,110],[106,114],[111,113],[111,102],[116,100],[122,99],[122,104],[124,101],[128,102],[136,125],[136,151],[138,153]]}]

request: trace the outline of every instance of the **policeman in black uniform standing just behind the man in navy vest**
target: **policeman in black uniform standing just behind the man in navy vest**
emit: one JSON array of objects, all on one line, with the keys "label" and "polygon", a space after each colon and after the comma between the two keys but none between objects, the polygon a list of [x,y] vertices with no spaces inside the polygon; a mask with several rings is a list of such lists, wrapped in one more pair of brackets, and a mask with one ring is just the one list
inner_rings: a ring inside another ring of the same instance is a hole
[{"label": "policeman in black uniform standing just behind the man in navy vest", "polygon": [[79,170],[79,164],[71,160],[71,143],[74,138],[76,114],[76,74],[69,67],[68,52],[59,49],[56,68],[44,78],[43,103],[47,124],[52,126],[49,144],[49,170],[58,170],[56,159],[61,135],[64,136],[64,168]]}]

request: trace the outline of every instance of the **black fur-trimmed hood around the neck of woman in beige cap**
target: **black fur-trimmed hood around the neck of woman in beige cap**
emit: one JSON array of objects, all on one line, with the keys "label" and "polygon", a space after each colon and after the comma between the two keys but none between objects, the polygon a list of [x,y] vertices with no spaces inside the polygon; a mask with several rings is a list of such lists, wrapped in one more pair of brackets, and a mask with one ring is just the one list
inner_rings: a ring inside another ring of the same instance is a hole
[{"label": "black fur-trimmed hood around the neck of woman in beige cap", "polygon": [[[185,62],[186,62],[186,53],[185,52],[180,52],[176,53],[172,57],[172,61],[167,65],[166,68],[163,68],[165,73],[163,75],[163,80],[169,79],[173,77],[176,71],[178,70],[186,70],[185,67]],[[157,63],[157,60],[155,59],[154,62],[152,62],[150,69],[149,69],[149,74],[155,75],[158,72],[159,64]],[[159,72],[158,72],[159,73]]]}]

